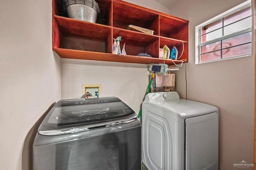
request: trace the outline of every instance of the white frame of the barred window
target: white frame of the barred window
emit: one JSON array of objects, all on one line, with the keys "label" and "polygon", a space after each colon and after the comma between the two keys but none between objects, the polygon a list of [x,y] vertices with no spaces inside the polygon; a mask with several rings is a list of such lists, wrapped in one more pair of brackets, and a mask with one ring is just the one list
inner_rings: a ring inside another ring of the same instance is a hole
[{"label": "white frame of the barred window", "polygon": [[[196,26],[196,31],[195,31],[196,32],[196,35],[195,35],[195,39],[196,39],[196,54],[195,54],[196,64],[210,63],[210,62],[214,62],[214,61],[222,61],[222,60],[228,60],[228,59],[251,56],[251,54],[246,54],[246,55],[240,55],[240,56],[235,56],[235,57],[228,57],[228,58],[222,58],[222,59],[200,62],[200,42],[201,42],[200,31],[201,31],[201,28],[210,24],[210,23],[213,23],[214,21],[220,20],[221,18],[224,18],[226,16],[234,14],[235,12],[237,12],[237,11],[243,9],[243,8],[246,8],[248,6],[252,6],[251,0],[247,0],[246,2],[243,2],[242,4],[240,4],[238,6],[235,6],[234,8],[231,8],[230,10],[228,10],[226,12],[223,12],[222,14],[220,14],[220,15],[218,15],[218,16],[210,19],[210,20],[207,20],[204,23],[201,23],[200,25]],[[253,15],[252,15],[252,19],[253,19]],[[208,43],[209,42],[213,43],[213,42],[216,42],[216,41],[224,40],[224,39],[227,39],[229,37],[234,37],[234,36],[239,35],[241,33],[246,33],[246,32],[250,32],[250,31],[252,31],[252,27],[248,28],[248,29],[245,29],[245,30],[242,30],[242,31],[238,31],[236,33],[232,33],[230,35],[220,37],[218,39],[214,39],[212,41],[208,41]],[[252,53],[252,49],[251,49],[251,53]]]}]

